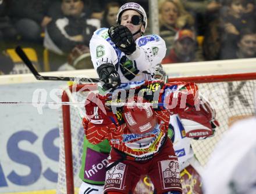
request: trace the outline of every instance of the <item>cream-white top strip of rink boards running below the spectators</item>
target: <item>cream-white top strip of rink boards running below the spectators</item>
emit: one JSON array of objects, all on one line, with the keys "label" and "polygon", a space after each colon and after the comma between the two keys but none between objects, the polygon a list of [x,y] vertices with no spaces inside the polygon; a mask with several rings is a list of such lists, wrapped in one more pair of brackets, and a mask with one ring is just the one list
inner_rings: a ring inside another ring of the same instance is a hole
[{"label": "cream-white top strip of rink boards running below the spectators", "polygon": [[[256,72],[256,58],[245,58],[235,60],[200,61],[193,63],[164,64],[163,68],[169,77],[216,75],[216,74],[239,74]],[[84,78],[98,78],[94,69],[76,71],[53,71],[42,72],[45,76],[79,76]],[[32,83],[42,82],[36,80],[32,74],[1,75],[0,85],[9,83]]]}]

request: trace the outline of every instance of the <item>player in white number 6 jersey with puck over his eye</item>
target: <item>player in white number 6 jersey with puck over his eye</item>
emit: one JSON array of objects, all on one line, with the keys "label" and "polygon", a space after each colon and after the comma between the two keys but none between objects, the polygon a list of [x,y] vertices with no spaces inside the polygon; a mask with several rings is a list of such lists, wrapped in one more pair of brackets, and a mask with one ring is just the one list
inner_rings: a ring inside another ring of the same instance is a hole
[{"label": "player in white number 6 jersey with puck over his eye", "polygon": [[99,78],[106,89],[151,79],[155,65],[165,57],[165,41],[158,35],[145,35],[147,15],[137,3],[126,3],[117,15],[117,26],[94,32],[90,52]]}]

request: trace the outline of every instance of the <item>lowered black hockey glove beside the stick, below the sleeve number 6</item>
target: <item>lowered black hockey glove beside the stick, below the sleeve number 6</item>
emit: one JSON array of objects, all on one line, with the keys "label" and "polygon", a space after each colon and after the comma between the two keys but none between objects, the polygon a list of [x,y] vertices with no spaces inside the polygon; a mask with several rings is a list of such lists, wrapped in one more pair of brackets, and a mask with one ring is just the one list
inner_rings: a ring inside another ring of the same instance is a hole
[{"label": "lowered black hockey glove beside the stick, below the sleeve number 6", "polygon": [[120,85],[119,74],[116,68],[111,63],[102,64],[97,68],[97,73],[99,78],[103,80],[104,85],[102,85],[104,90],[116,89]]}]

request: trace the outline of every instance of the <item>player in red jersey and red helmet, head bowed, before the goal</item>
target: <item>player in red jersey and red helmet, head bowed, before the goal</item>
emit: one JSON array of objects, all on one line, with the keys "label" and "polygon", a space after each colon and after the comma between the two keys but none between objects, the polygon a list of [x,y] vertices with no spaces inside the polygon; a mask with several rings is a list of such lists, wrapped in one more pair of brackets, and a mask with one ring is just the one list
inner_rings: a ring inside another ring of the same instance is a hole
[{"label": "player in red jersey and red helmet, head bowed, before the goal", "polygon": [[[156,193],[182,193],[179,163],[167,137],[169,116],[200,108],[197,93],[194,83],[143,81],[126,93],[126,102],[140,106],[126,104],[115,111],[105,105],[113,96],[88,96],[83,119],[87,139],[92,144],[108,139],[112,147],[104,193],[131,193],[141,174],[150,176]],[[156,100],[164,108],[147,104]],[[196,132],[212,135],[210,129]]]}]

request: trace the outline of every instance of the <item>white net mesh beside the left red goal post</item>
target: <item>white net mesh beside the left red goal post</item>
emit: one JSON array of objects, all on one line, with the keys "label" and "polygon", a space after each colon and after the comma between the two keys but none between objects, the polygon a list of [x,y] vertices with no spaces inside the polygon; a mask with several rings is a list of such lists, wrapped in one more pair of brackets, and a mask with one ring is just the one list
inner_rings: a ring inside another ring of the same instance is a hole
[{"label": "white net mesh beside the left red goal post", "polygon": [[[83,87],[84,86],[81,86],[81,88]],[[80,87],[78,89],[80,89]],[[84,130],[82,126],[80,112],[81,111],[84,112],[84,101],[87,97],[88,92],[83,91],[83,89],[81,89],[81,91],[79,92],[74,92],[75,89],[72,89],[72,90],[73,90],[72,98],[74,102],[78,102],[80,104],[71,105],[69,117],[66,117],[65,119],[70,119],[70,127],[71,127],[71,133],[72,133],[73,177],[70,177],[70,178],[74,178],[74,192],[78,193],[78,189],[81,184],[81,180],[79,178],[79,170],[81,165],[81,156],[83,154],[83,140],[84,140]],[[91,91],[94,91],[94,93],[97,93],[96,90],[91,90]],[[60,135],[60,153],[59,153],[58,185],[56,189],[57,194],[67,193],[62,110],[59,112],[59,135]],[[67,146],[70,146],[70,145],[66,145],[66,147]]]}]

